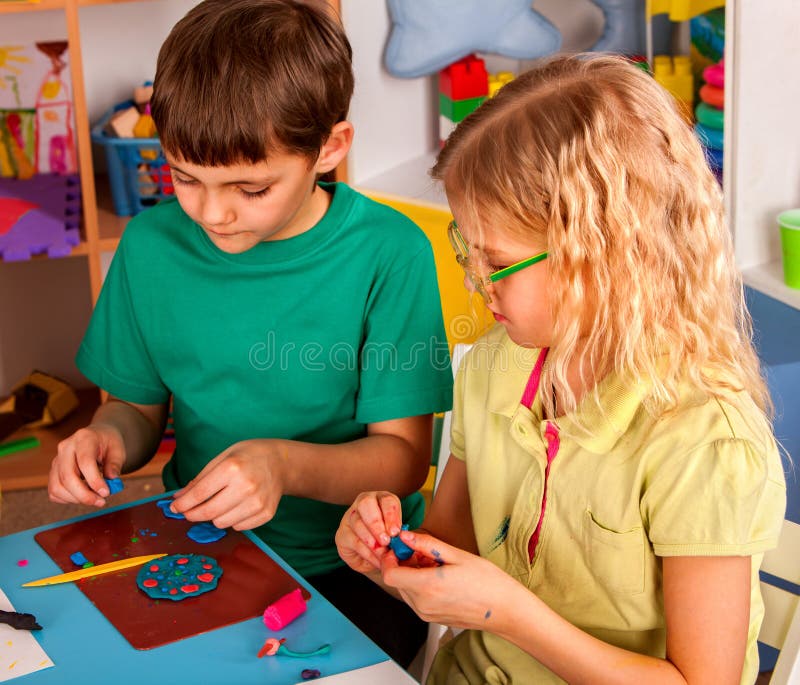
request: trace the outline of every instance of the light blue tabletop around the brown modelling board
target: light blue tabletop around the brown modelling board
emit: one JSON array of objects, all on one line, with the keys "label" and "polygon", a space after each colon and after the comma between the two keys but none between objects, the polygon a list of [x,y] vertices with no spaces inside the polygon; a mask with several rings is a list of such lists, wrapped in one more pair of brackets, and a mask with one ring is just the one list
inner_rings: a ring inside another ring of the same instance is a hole
[{"label": "light blue tabletop around the brown modelling board", "polygon": [[[107,511],[162,497],[163,494],[156,495],[72,521],[101,516]],[[324,643],[330,643],[330,653],[308,660],[282,656],[258,659],[256,653],[264,640],[278,636],[266,629],[260,617],[155,649],[136,650],[74,583],[41,588],[21,587],[22,583],[30,580],[61,573],[61,569],[39,547],[33,536],[40,530],[64,523],[0,538],[0,588],[8,595],[16,611],[36,616],[43,630],[34,635],[55,663],[54,668],[31,673],[12,680],[12,683],[142,685],[147,682],[174,681],[182,685],[281,685],[309,682],[303,681],[300,676],[305,668],[316,668],[323,676],[332,676],[329,682],[397,685],[415,682],[267,545],[249,532],[246,535],[313,596],[306,613],[283,629],[279,637],[285,637],[287,647],[296,651],[312,651]],[[20,560],[27,560],[27,565],[19,566]],[[374,674],[374,677],[370,674]],[[316,682],[325,682],[325,678]]]}]

